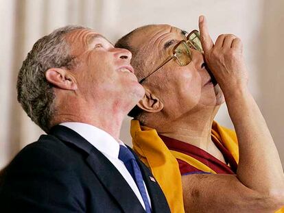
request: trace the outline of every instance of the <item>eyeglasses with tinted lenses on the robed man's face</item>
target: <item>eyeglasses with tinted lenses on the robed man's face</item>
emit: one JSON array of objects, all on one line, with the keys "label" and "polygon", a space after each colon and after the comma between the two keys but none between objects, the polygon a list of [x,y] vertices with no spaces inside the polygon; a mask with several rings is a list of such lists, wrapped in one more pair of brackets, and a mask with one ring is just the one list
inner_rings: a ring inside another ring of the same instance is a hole
[{"label": "eyeglasses with tinted lenses on the robed man's face", "polygon": [[169,55],[167,60],[163,62],[160,66],[158,66],[153,72],[151,72],[149,75],[144,77],[139,81],[141,84],[145,81],[147,77],[158,71],[159,68],[167,64],[167,62],[171,61],[172,59],[175,59],[175,61],[180,66],[186,66],[191,62],[191,50],[190,49],[196,49],[197,51],[200,51],[200,53],[204,53],[200,41],[200,33],[198,30],[194,29],[188,36],[187,40],[181,40],[176,44],[176,46],[173,49],[173,55]]}]

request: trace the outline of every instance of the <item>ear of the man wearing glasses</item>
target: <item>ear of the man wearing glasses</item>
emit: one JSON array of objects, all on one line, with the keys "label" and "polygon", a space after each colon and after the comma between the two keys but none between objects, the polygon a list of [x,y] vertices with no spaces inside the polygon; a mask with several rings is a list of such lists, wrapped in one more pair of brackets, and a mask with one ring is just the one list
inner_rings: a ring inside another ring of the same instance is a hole
[{"label": "ear of the man wearing glasses", "polygon": [[146,112],[160,112],[164,108],[164,104],[158,97],[152,94],[150,90],[145,88],[144,97],[137,103],[139,108],[145,110]]}]

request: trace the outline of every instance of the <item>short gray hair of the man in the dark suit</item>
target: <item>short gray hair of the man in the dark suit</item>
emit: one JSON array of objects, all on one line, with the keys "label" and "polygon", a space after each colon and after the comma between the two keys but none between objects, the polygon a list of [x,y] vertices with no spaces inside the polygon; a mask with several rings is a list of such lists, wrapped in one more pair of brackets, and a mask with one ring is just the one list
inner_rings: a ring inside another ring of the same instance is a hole
[{"label": "short gray hair of the man in the dark suit", "polygon": [[49,131],[51,118],[56,113],[53,85],[47,82],[45,72],[49,68],[73,67],[73,57],[65,36],[75,29],[68,25],[40,38],[23,61],[16,84],[18,101],[34,123]]}]

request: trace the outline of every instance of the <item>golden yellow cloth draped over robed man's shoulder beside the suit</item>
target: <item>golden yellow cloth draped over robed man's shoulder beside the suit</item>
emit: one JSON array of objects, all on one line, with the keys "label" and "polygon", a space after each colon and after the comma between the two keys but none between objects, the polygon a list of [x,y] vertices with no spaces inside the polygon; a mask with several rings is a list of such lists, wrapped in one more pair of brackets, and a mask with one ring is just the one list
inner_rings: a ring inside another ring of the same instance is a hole
[{"label": "golden yellow cloth draped over robed man's shoulder beside the suit", "polygon": [[155,129],[131,121],[131,136],[134,151],[150,167],[161,186],[172,213],[184,213],[181,175],[178,162],[158,136]]}]

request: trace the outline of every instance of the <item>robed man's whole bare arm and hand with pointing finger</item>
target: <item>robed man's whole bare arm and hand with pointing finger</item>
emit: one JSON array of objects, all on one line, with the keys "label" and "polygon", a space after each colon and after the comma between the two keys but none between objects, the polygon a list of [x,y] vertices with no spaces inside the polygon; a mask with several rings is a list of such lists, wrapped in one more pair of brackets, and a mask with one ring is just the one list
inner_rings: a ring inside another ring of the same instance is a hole
[{"label": "robed man's whole bare arm and hand with pointing finger", "polygon": [[200,33],[205,60],[224,92],[237,133],[239,164],[236,175],[182,176],[185,210],[276,211],[284,205],[283,167],[265,120],[246,88],[241,40],[222,35],[214,45],[203,16]]}]

